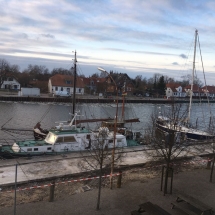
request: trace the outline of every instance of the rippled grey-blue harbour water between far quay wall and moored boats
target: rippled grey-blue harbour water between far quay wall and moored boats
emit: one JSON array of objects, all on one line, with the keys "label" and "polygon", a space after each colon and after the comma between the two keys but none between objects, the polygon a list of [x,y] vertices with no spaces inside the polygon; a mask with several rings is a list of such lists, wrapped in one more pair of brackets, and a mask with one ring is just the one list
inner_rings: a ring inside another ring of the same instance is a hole
[{"label": "rippled grey-blue harbour water between far quay wall and moored boats", "polygon": [[[126,127],[132,127],[133,130],[143,132],[150,121],[150,116],[154,111],[168,109],[170,105],[155,105],[155,104],[126,104],[125,118],[140,119],[140,122],[127,124]],[[113,104],[78,104],[77,109],[80,110],[79,118],[113,118],[116,114],[116,107]],[[14,103],[0,102],[0,126],[7,128],[24,128],[33,129],[38,121],[41,121],[43,128],[49,129],[55,125],[57,121],[67,121],[71,119],[70,112],[72,106],[63,103]],[[209,122],[209,107],[207,104],[194,104],[192,107],[191,119],[195,124],[198,118],[198,123],[202,127],[206,127],[203,119]],[[212,113],[215,111],[215,105],[211,105]],[[119,107],[118,117],[122,117],[121,107]],[[99,127],[100,123],[84,123],[85,127],[90,127],[92,130]],[[33,132],[9,133],[0,130],[0,139],[31,139]]]}]

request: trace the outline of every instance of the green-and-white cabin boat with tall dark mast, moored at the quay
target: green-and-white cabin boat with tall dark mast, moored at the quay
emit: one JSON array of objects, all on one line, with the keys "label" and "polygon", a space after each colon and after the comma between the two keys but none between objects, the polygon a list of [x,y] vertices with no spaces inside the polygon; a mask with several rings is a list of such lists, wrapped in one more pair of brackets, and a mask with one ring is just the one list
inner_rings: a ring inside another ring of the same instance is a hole
[{"label": "green-and-white cabin boat with tall dark mast, moored at the quay", "polygon": [[[73,88],[73,117],[70,122],[61,121],[54,128],[50,129],[45,139],[42,140],[24,140],[16,141],[12,146],[0,145],[0,156],[13,158],[22,156],[39,156],[39,155],[56,155],[66,154],[74,151],[90,150],[91,146],[97,144],[98,131],[86,129],[84,126],[77,126],[80,121],[76,120],[79,111],[75,110],[75,94],[76,94],[76,52],[74,61],[74,88]],[[117,118],[116,118],[117,119]],[[94,119],[96,120],[96,119]],[[101,119],[100,119],[101,120]],[[125,135],[108,131],[105,147],[111,149],[115,147],[127,147],[138,145],[134,139],[128,140]],[[112,144],[113,140],[116,144]]]}]

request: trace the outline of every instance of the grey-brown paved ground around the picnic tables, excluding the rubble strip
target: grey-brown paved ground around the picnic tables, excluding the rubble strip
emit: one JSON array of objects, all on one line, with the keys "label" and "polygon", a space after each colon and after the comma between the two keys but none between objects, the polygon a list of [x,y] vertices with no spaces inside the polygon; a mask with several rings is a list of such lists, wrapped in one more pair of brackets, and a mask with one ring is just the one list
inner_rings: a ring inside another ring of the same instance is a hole
[{"label": "grey-brown paved ground around the picnic tables, excluding the rubble strip", "polygon": [[[97,189],[75,195],[65,195],[50,203],[47,201],[21,204],[17,206],[17,215],[125,215],[138,209],[138,205],[151,201],[172,215],[181,214],[171,209],[170,203],[175,201],[178,191],[183,191],[215,210],[215,174],[214,182],[209,182],[210,171],[207,169],[189,170],[174,175],[173,195],[163,196],[160,191],[160,177],[146,180],[128,181],[122,188],[103,188],[101,209],[96,211]],[[13,207],[1,208],[1,215],[13,214]]]}]

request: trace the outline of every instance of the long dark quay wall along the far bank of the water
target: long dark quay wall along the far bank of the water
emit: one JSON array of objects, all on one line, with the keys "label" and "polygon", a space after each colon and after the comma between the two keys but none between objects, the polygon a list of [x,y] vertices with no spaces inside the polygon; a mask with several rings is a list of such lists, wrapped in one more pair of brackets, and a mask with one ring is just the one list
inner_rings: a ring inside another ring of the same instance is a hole
[{"label": "long dark quay wall along the far bank of the water", "polygon": [[[72,103],[72,98],[56,98],[56,97],[23,97],[23,96],[0,96],[0,101],[13,101],[13,102],[62,102],[62,103]],[[126,98],[126,103],[153,103],[153,104],[170,104],[175,103],[188,103],[188,99],[155,99],[155,98],[143,98],[134,99]],[[116,102],[115,98],[76,98],[76,102],[80,103],[113,103]],[[194,103],[200,103],[199,100],[194,99]],[[207,99],[201,101],[202,103],[207,103]],[[122,98],[119,98],[119,103],[122,103]],[[215,103],[215,100],[210,100],[210,103]]]}]

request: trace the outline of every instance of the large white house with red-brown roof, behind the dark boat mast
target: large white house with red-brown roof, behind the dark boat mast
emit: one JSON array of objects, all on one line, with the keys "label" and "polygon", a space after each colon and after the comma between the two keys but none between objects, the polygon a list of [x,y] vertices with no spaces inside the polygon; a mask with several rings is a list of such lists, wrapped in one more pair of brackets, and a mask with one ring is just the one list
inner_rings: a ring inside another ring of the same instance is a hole
[{"label": "large white house with red-brown roof, behind the dark boat mast", "polygon": [[[84,94],[84,82],[83,78],[77,77],[76,79],[76,94]],[[73,94],[73,82],[74,77],[71,75],[56,74],[52,76],[48,81],[49,93],[60,94],[68,93]]]}]

